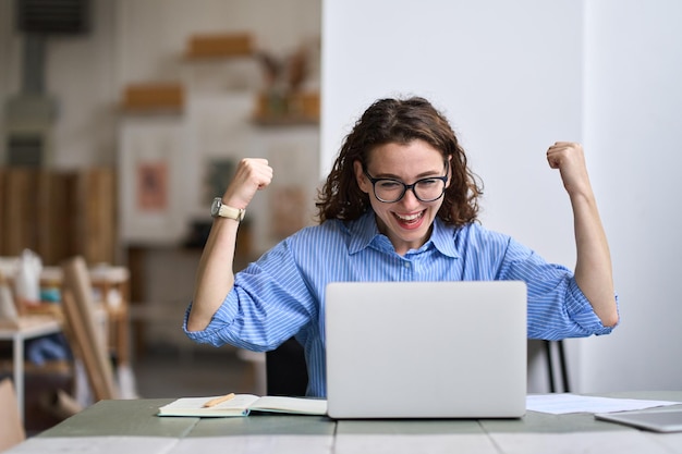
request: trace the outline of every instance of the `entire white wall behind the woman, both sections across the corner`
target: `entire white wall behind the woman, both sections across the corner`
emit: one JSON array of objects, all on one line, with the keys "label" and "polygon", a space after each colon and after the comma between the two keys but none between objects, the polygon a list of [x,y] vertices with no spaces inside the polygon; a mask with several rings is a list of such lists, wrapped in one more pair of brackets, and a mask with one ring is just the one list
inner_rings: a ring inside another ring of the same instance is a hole
[{"label": "entire white wall behind the woman, both sections across the corner", "polygon": [[[555,140],[585,143],[623,321],[610,336],[568,342],[573,389],[679,388],[671,173],[680,158],[666,133],[682,107],[679,12],[662,0],[326,1],[320,173],[369,102],[426,96],[484,179],[484,224],[572,267],[570,205],[545,151]],[[666,244],[650,248],[651,235]]]}]

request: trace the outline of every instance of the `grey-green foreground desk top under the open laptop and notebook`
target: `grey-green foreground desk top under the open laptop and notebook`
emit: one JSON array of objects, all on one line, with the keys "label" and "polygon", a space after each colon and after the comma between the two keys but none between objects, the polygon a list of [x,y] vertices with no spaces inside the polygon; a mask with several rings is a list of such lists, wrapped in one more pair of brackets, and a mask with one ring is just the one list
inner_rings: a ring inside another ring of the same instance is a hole
[{"label": "grey-green foreground desk top under the open laptop and notebook", "polygon": [[[682,402],[682,391],[611,394]],[[9,451],[19,453],[682,453],[682,433],[597,421],[592,414],[521,419],[334,421],[319,416],[160,418],[171,400],[101,401]]]}]

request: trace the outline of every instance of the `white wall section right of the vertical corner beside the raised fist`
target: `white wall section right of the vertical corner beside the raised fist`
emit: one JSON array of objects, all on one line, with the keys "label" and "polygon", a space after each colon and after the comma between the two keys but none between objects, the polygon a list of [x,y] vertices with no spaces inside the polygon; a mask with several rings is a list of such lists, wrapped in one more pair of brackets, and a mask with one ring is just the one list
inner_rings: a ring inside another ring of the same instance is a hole
[{"label": "white wall section right of the vertical corner beside the raised fist", "polygon": [[680,389],[682,3],[585,2],[585,142],[621,327],[583,343],[587,389]]}]

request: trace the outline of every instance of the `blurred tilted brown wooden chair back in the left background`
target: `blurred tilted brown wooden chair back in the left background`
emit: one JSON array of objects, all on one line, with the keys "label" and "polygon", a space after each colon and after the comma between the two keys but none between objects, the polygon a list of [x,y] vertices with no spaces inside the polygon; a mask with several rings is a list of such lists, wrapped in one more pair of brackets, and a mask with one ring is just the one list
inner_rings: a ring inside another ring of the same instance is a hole
[{"label": "blurred tilted brown wooden chair back in the left background", "polygon": [[93,286],[85,259],[66,259],[63,271],[62,306],[74,354],[85,366],[96,401],[118,398],[102,323],[97,321]]}]

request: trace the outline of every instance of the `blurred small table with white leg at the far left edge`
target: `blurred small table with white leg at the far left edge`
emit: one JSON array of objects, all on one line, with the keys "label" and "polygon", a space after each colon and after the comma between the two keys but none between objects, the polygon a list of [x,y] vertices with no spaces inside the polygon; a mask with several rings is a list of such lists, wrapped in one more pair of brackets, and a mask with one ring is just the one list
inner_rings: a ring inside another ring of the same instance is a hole
[{"label": "blurred small table with white leg at the far left edge", "polygon": [[0,326],[0,340],[12,341],[14,388],[16,389],[16,402],[19,403],[19,416],[24,420],[24,342],[41,335],[53,334],[61,331],[60,322],[50,317],[21,317],[17,327]]}]

